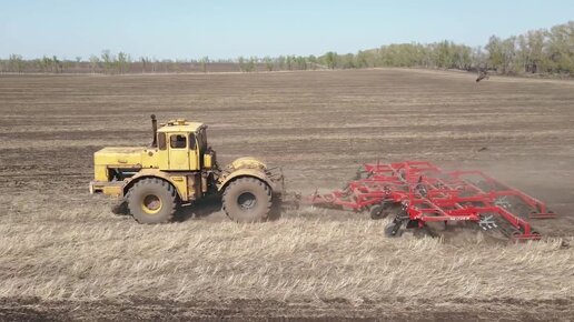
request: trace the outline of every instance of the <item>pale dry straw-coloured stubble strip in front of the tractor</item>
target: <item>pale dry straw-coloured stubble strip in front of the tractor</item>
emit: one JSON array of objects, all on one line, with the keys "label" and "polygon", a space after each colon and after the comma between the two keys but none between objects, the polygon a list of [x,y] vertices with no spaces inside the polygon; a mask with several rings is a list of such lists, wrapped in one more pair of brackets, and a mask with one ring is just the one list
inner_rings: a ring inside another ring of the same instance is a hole
[{"label": "pale dry straw-coloured stubble strip in front of the tractor", "polygon": [[[43,300],[404,298],[571,300],[574,250],[561,240],[463,244],[387,239],[385,221],[294,213],[265,224],[190,220],[137,225],[103,207],[3,215],[0,296]],[[66,219],[66,228],[53,223]]]}]

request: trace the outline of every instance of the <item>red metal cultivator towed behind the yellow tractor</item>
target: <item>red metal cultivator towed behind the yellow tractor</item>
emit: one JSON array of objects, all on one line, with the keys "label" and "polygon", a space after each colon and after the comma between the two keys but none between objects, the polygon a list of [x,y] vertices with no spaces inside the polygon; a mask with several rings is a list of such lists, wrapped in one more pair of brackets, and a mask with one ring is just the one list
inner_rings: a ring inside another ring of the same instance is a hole
[{"label": "red metal cultivator towed behind the yellow tractor", "polygon": [[395,214],[385,232],[423,228],[429,222],[471,221],[483,230],[499,229],[509,238],[537,240],[527,218],[555,214],[546,204],[504,185],[481,171],[445,172],[429,162],[405,161],[365,164],[344,190],[317,192],[303,200],[326,208],[370,210],[373,219]]}]

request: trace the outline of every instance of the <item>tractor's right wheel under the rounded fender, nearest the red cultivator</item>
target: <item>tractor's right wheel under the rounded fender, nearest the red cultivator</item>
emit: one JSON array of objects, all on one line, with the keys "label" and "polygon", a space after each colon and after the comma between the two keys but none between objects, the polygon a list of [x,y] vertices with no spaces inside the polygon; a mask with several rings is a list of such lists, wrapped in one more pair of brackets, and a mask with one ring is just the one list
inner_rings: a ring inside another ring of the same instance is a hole
[{"label": "tractor's right wheel under the rounded fender, nearest the red cultivator", "polygon": [[271,210],[271,189],[256,178],[236,179],[225,189],[224,211],[237,222],[266,221]]}]

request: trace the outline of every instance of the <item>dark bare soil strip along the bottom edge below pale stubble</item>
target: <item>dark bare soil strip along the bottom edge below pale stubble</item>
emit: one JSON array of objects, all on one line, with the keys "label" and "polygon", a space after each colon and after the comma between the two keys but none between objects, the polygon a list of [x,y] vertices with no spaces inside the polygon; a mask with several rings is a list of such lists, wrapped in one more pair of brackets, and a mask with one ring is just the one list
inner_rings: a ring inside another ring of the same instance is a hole
[{"label": "dark bare soil strip along the bottom edge below pale stubble", "polygon": [[[176,302],[152,299],[127,301],[0,301],[1,320],[73,321],[100,320],[185,320],[185,321],[562,321],[574,314],[571,303],[492,302],[390,303],[356,305],[344,299],[316,303],[285,303],[278,301],[232,300],[212,302]],[[89,314],[89,315],[88,315]],[[88,315],[88,316],[87,316]],[[87,319],[88,318],[88,319]]]}]

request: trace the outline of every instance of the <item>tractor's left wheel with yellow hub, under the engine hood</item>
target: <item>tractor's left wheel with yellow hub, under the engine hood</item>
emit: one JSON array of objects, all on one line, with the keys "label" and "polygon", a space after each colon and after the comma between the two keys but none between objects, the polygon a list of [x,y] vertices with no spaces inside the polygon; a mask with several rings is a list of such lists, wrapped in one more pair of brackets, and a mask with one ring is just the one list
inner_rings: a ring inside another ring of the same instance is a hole
[{"label": "tractor's left wheel with yellow hub, under the engine hood", "polygon": [[126,198],[133,219],[139,223],[162,223],[174,219],[177,209],[175,188],[160,179],[142,179]]}]

